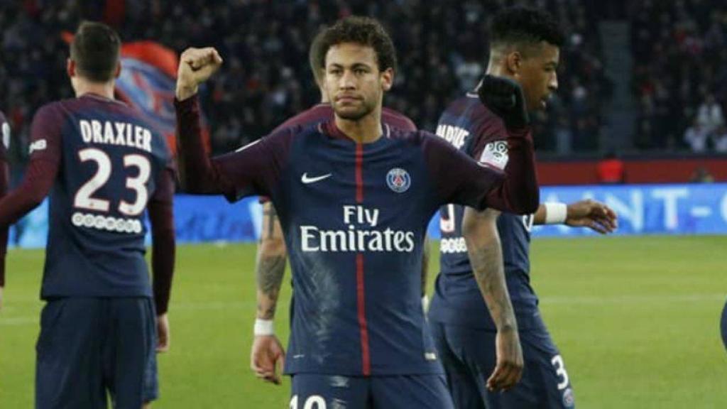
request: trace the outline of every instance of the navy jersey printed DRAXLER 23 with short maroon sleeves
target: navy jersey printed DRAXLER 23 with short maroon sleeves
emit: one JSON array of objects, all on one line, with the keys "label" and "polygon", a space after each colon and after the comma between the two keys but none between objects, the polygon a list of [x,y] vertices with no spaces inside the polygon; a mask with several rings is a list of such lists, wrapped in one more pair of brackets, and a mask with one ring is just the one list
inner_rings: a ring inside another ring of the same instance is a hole
[{"label": "navy jersey printed DRAXLER 23 with short maroon sleeves", "polygon": [[164,137],[126,104],[87,94],[41,107],[30,151],[29,166],[57,170],[41,297],[150,297],[143,218],[171,166]]}]

